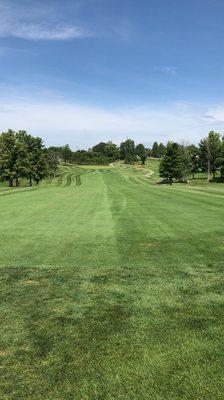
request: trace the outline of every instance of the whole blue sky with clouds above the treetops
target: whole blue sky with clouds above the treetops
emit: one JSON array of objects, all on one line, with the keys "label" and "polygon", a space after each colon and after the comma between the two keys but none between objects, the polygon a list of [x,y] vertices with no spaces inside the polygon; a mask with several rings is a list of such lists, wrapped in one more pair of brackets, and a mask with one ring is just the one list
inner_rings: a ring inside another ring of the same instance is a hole
[{"label": "whole blue sky with clouds above the treetops", "polygon": [[224,131],[223,0],[0,0],[0,130],[88,148]]}]

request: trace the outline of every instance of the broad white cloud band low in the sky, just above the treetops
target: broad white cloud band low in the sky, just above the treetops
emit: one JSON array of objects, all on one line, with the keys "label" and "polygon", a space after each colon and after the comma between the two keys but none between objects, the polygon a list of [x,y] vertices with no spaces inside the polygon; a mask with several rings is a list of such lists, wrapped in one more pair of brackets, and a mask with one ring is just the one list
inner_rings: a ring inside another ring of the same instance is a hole
[{"label": "broad white cloud band low in the sky, just above the treetops", "polygon": [[[206,118],[207,114],[212,119]],[[221,131],[223,122],[224,106],[178,103],[111,110],[53,99],[48,103],[0,103],[0,131],[26,129],[47,144],[70,143],[73,148],[88,148],[101,140],[120,143],[126,137],[145,145],[154,140],[197,143],[209,130]]]}]

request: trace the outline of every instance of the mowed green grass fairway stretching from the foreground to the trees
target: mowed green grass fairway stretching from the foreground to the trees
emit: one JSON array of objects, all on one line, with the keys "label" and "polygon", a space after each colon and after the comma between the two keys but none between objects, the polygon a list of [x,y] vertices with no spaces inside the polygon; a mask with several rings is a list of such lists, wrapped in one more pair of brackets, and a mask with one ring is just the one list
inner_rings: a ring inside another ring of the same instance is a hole
[{"label": "mowed green grass fairway stretching from the foreground to the trees", "polygon": [[224,185],[146,172],[0,190],[1,399],[223,399]]}]

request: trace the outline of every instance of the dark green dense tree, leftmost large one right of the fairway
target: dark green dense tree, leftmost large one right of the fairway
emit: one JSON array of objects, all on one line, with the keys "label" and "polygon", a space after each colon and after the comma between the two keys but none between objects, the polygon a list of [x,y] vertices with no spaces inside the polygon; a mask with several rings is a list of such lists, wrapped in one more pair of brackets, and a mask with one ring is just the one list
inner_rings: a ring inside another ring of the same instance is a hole
[{"label": "dark green dense tree, leftmost large one right of the fairway", "polygon": [[170,185],[173,184],[173,179],[182,179],[183,153],[178,143],[168,142],[164,157],[160,161],[159,174]]}]

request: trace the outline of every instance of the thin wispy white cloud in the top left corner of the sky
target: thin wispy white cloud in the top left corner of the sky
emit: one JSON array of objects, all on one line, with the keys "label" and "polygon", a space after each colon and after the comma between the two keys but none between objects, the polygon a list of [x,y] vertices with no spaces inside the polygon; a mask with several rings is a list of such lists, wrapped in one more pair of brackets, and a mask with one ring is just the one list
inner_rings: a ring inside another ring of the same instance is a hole
[{"label": "thin wispy white cloud in the top left corner of the sky", "polygon": [[[44,7],[44,6],[43,6]],[[26,40],[68,40],[85,38],[93,34],[86,28],[61,23],[61,18],[52,9],[32,8],[24,11],[21,7],[0,4],[0,37],[15,37]]]}]

